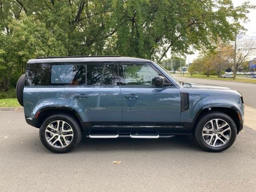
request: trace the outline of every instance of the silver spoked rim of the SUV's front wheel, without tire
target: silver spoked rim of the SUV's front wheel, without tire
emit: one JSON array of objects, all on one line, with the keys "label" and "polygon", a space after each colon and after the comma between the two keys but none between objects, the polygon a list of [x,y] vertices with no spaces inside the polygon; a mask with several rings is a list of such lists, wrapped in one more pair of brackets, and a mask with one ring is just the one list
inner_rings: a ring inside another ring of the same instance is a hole
[{"label": "silver spoked rim of the SUV's front wheel, without tire", "polygon": [[204,125],[202,136],[208,145],[220,147],[230,140],[231,128],[222,119],[212,119]]}]

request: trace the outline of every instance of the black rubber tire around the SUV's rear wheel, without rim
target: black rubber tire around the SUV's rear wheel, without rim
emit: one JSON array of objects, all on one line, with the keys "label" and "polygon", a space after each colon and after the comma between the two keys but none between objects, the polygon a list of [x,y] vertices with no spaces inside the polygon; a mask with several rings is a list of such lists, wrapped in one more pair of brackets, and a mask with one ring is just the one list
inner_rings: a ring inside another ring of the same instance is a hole
[{"label": "black rubber tire around the SUV's rear wheel, without rim", "polygon": [[[65,146],[63,148],[56,148],[48,143],[46,140],[46,133],[45,130],[47,126],[54,121],[61,120],[67,122],[71,128],[73,129],[73,138],[70,144],[68,146]],[[55,153],[66,153],[78,146],[80,141],[82,140],[82,130],[80,127],[79,122],[74,118],[73,116],[70,116],[69,114],[54,114],[52,116],[49,116],[46,118],[46,120],[42,123],[40,126],[40,140],[42,144],[50,151],[55,152]]]}]

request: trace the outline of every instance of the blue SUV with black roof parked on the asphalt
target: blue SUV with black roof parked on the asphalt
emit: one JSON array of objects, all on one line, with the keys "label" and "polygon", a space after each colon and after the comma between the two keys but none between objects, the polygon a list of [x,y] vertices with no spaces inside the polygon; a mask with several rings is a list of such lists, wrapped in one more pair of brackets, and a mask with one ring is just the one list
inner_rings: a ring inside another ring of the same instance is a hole
[{"label": "blue SUV with black roof parked on the asphalt", "polygon": [[193,134],[207,151],[229,148],[243,128],[242,95],[176,80],[157,63],[120,56],[28,61],[17,83],[28,124],[56,153],[87,138],[171,138]]}]

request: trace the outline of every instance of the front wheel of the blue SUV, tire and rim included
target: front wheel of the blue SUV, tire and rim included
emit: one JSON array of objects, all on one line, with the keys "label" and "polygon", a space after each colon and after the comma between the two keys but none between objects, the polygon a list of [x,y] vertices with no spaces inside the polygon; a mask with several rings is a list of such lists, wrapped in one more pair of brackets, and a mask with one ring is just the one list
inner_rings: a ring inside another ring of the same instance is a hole
[{"label": "front wheel of the blue SUV, tire and rim included", "polygon": [[224,151],[236,140],[237,128],[234,120],[222,112],[204,114],[196,124],[194,138],[210,152]]}]

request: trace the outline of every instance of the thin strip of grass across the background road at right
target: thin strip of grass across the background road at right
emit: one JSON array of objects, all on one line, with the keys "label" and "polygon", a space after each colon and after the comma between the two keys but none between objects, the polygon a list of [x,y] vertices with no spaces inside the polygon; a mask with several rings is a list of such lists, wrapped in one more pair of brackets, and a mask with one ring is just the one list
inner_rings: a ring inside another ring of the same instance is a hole
[{"label": "thin strip of grass across the background road at right", "polygon": [[236,80],[233,80],[233,78],[222,78],[222,77],[217,77],[216,75],[210,75],[210,77],[207,77],[206,75],[197,75],[197,74],[185,74],[185,77],[190,77],[190,78],[201,78],[201,79],[212,79],[212,80],[222,80],[222,81],[235,81],[235,82],[245,82],[245,83],[256,83],[256,79],[254,78],[236,78]]}]

